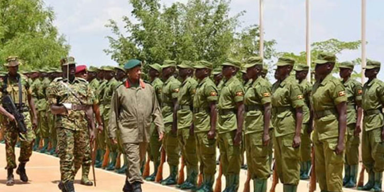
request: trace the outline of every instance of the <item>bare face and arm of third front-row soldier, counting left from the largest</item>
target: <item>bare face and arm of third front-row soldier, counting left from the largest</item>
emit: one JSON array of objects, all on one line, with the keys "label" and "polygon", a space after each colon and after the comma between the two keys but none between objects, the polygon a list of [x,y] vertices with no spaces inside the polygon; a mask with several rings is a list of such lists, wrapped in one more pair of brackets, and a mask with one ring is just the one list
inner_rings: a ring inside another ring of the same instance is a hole
[{"label": "bare face and arm of third front-row soldier, counting left from the largest", "polygon": [[[260,65],[256,65],[253,67],[250,67],[247,69],[247,76],[252,79],[252,82],[254,82],[256,79],[261,76],[261,72],[263,70],[263,67]],[[264,105],[264,132],[263,132],[263,145],[267,146],[270,142],[269,137],[269,123],[271,119],[271,103],[265,103]]]}]

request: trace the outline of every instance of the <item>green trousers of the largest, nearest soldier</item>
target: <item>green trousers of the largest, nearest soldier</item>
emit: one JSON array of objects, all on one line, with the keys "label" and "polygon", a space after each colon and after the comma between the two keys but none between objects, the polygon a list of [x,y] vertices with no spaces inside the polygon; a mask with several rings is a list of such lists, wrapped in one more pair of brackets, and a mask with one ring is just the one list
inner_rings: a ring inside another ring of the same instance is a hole
[{"label": "green trousers of the largest, nearest soldier", "polygon": [[335,153],[337,137],[319,140],[318,133],[315,131],[313,134],[316,165],[315,173],[320,189],[322,191],[343,191],[345,151],[340,155]]}]

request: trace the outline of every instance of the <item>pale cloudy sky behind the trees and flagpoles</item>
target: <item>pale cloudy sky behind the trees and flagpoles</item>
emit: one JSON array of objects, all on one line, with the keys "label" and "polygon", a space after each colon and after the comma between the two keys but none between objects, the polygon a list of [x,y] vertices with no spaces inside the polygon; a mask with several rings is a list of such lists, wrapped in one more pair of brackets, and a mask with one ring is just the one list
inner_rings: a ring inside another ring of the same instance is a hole
[{"label": "pale cloudy sky behind the trees and flagpoles", "polygon": [[[104,25],[109,19],[123,27],[122,16],[131,16],[129,0],[44,0],[52,7],[54,25],[71,45],[70,54],[85,65],[117,65],[103,49],[109,48],[106,36],[112,35]],[[161,4],[185,3],[187,0],[162,0]],[[384,1],[367,1],[367,57],[384,65]],[[259,24],[259,1],[232,0],[230,15],[245,10],[241,26]],[[337,38],[361,39],[361,0],[311,0],[311,42]],[[275,39],[278,52],[300,53],[305,50],[305,0],[264,0],[265,39]],[[361,49],[337,55],[339,61],[361,56]],[[359,70],[356,70],[359,71]],[[382,70],[384,71],[384,70]],[[384,72],[380,77],[384,77]]]}]

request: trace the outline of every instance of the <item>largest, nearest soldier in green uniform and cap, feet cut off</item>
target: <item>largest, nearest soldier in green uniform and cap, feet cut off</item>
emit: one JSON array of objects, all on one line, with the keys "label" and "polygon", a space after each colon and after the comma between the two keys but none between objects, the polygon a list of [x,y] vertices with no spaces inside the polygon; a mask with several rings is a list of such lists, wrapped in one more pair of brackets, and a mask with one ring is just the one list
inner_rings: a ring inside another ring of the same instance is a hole
[{"label": "largest, nearest soldier in green uniform and cap, feet cut off", "polygon": [[331,53],[321,53],[314,61],[316,82],[310,99],[315,173],[322,191],[343,191],[347,97],[343,83],[331,74],[335,61]]}]

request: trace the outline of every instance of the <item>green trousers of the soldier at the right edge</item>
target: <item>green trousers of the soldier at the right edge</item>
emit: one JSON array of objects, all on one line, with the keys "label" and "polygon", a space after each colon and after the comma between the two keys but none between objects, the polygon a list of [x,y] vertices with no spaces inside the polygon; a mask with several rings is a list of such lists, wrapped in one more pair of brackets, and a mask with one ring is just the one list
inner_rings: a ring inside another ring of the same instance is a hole
[{"label": "green trousers of the soldier at the right edge", "polygon": [[384,171],[384,143],[381,140],[381,128],[362,131],[361,140],[362,163],[367,172],[381,173]]}]

